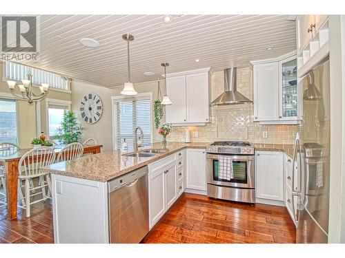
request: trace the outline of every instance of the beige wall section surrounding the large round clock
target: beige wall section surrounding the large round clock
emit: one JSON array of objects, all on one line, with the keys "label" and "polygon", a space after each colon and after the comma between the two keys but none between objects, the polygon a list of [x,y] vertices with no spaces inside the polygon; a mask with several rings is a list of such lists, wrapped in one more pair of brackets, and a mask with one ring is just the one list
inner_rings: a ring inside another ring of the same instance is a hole
[{"label": "beige wall section surrounding the large round clock", "polygon": [[[112,149],[112,120],[111,120],[111,94],[110,89],[99,87],[79,80],[72,80],[72,110],[76,112],[79,122],[83,127],[82,142],[88,138],[95,138],[97,143],[103,144],[104,150]],[[80,102],[86,94],[97,94],[103,103],[103,114],[95,124],[89,125],[81,119],[79,111]]]}]

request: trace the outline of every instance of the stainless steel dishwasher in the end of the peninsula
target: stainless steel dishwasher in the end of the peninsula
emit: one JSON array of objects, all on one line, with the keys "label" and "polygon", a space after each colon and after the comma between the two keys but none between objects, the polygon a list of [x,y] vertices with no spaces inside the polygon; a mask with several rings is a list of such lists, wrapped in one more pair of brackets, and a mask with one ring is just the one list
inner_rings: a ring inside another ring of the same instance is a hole
[{"label": "stainless steel dishwasher in the end of the peninsula", "polygon": [[108,182],[110,243],[139,243],[148,233],[148,166]]}]

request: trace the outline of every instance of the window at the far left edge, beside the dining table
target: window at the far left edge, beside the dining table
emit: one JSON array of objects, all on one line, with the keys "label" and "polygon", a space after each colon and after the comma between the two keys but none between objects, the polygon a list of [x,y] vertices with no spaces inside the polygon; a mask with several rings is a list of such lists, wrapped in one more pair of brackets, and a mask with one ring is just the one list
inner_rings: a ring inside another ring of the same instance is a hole
[{"label": "window at the far left edge, beside the dining table", "polygon": [[14,100],[0,99],[0,142],[18,143],[17,111]]}]

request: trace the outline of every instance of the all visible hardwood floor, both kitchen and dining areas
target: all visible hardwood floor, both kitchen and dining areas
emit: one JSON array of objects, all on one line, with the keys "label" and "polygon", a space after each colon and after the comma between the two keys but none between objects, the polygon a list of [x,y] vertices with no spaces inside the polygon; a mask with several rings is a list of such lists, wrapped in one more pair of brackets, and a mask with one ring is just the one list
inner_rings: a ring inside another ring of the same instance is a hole
[{"label": "all visible hardwood floor, both kitchen and dining areas", "polygon": [[[51,202],[19,209],[7,219],[0,208],[1,243],[54,243]],[[295,226],[286,208],[239,204],[184,193],[142,243],[295,243]]]}]

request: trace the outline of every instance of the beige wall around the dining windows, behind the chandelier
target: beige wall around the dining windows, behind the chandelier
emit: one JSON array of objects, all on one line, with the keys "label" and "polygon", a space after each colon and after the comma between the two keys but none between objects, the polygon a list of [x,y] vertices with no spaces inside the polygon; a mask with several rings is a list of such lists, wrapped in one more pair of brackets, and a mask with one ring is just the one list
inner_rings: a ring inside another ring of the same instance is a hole
[{"label": "beige wall around the dining windows, behind the chandelier", "polygon": [[[12,98],[8,90],[8,85],[3,78],[3,67],[0,62],[0,98]],[[39,94],[39,88],[34,87],[34,92]],[[19,92],[18,92],[19,93]],[[67,92],[58,92],[50,90],[47,98],[58,100],[71,100],[71,94]],[[26,101],[17,100],[17,125],[19,147],[30,148],[31,140],[37,137],[37,131],[46,132],[46,102],[43,100],[39,103],[41,113],[41,128],[36,128],[36,108],[35,104],[29,104]]]}]

